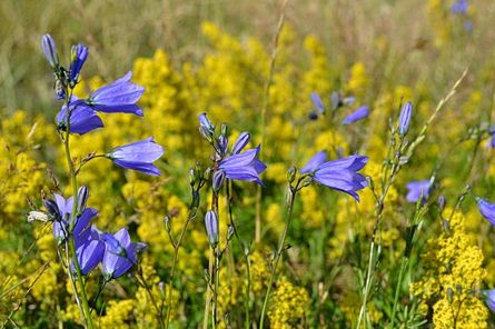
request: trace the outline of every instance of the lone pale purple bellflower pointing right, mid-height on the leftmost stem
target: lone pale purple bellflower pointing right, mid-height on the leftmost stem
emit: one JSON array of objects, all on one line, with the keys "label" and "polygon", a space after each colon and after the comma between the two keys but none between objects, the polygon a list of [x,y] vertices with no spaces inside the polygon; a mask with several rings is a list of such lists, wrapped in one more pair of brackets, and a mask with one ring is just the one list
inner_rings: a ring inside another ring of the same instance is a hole
[{"label": "lone pale purple bellflower pointing right, mid-height on the leftmost stem", "polygon": [[127,146],[118,147],[107,153],[113,163],[151,176],[159,176],[160,170],[152,164],[164,154],[164,148],[154,141],[154,138],[137,141]]}]

